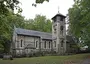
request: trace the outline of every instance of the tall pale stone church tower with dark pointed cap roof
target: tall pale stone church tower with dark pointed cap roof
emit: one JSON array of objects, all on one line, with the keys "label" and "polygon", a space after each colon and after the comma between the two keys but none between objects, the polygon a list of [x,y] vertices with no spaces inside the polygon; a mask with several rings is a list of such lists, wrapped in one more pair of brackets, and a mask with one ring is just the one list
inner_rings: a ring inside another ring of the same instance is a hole
[{"label": "tall pale stone church tower with dark pointed cap roof", "polygon": [[57,54],[64,54],[66,52],[66,25],[65,25],[66,16],[56,14],[52,18],[52,42],[53,50]]}]

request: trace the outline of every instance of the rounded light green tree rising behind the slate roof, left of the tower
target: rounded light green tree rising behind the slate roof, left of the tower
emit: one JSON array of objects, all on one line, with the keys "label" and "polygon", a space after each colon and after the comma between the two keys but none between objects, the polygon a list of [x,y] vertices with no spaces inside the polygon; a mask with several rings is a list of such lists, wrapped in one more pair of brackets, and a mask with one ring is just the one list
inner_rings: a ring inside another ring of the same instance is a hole
[{"label": "rounded light green tree rising behind the slate roof, left of the tower", "polygon": [[26,20],[25,28],[31,30],[38,30],[42,32],[51,32],[52,23],[49,19],[46,19],[45,16],[36,15],[34,19]]}]

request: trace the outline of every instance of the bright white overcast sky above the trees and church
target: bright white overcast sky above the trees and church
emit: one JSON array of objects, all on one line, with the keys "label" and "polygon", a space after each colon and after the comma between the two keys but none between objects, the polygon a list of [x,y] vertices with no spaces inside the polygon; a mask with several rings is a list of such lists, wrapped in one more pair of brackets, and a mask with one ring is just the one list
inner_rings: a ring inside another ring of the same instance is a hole
[{"label": "bright white overcast sky above the trees and church", "polygon": [[47,18],[51,19],[55,14],[59,12],[63,15],[68,13],[68,9],[74,4],[73,0],[50,0],[49,2],[44,2],[43,4],[38,4],[37,7],[32,6],[35,0],[19,0],[23,9],[22,15],[26,19],[33,19],[36,14],[45,15]]}]

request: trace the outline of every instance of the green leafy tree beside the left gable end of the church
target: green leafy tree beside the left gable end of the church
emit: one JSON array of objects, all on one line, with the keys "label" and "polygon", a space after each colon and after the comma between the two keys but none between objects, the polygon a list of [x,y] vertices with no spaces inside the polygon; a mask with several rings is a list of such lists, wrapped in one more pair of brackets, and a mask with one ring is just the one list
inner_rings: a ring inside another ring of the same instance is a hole
[{"label": "green leafy tree beside the left gable end of the church", "polygon": [[4,52],[9,51],[14,25],[21,28],[25,26],[24,17],[8,14],[0,15],[0,48],[4,48]]}]

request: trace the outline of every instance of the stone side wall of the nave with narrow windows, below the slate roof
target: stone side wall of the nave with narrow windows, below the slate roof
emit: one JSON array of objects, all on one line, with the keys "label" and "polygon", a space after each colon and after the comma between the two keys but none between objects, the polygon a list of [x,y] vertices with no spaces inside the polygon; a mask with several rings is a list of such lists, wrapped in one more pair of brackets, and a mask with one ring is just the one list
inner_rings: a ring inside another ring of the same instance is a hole
[{"label": "stone side wall of the nave with narrow windows, below the slate roof", "polygon": [[[51,51],[51,40],[42,40],[40,37],[17,35],[15,42],[16,55],[30,54],[41,51]],[[46,43],[46,45],[45,45]],[[33,48],[27,48],[28,45]],[[26,47],[26,48],[25,48]]]}]

